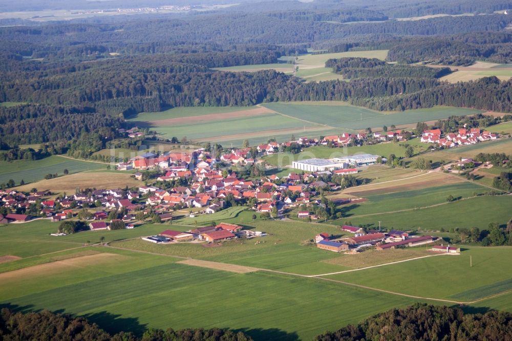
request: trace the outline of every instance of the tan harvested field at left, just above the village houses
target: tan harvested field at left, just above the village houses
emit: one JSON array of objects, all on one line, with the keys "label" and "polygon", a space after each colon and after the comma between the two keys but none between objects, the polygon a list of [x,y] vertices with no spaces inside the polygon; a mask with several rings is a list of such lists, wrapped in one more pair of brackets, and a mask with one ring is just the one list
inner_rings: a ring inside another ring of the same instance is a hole
[{"label": "tan harvested field at left, just above the village houses", "polygon": [[142,185],[142,181],[135,180],[128,173],[77,173],[58,177],[55,179],[41,180],[35,183],[19,186],[16,189],[30,191],[36,187],[39,190],[51,190],[57,193],[75,193],[76,187],[80,188],[124,188]]}]

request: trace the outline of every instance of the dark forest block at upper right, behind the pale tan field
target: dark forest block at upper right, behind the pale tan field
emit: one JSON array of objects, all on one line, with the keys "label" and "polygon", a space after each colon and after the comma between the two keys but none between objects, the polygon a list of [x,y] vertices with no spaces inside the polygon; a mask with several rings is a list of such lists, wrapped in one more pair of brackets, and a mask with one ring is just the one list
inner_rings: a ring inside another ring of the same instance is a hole
[{"label": "dark forest block at upper right, behind the pale tan field", "polygon": [[446,37],[403,39],[389,49],[388,60],[412,63],[431,61],[444,65],[471,65],[475,60],[512,62],[512,34],[478,32]]}]

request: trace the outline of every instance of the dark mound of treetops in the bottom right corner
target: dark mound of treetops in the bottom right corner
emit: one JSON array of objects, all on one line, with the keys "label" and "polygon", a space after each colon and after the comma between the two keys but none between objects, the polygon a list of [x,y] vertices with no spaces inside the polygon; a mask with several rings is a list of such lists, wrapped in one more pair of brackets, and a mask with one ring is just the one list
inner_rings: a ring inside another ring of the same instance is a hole
[{"label": "dark mound of treetops in the bottom right corner", "polygon": [[505,340],[512,338],[512,314],[465,314],[460,308],[416,304],[392,309],[327,332],[315,341],[351,340]]}]

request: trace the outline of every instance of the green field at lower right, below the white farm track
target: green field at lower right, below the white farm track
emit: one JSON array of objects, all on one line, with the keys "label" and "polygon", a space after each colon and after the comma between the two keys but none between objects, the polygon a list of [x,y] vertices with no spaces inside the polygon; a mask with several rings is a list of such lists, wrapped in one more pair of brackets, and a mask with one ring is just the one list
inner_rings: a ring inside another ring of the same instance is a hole
[{"label": "green field at lower right, below the white farm track", "polygon": [[[470,267],[470,255],[473,267]],[[388,265],[386,271],[374,268],[329,277],[410,295],[473,301],[510,288],[511,256],[510,247],[474,247],[460,255]]]}]

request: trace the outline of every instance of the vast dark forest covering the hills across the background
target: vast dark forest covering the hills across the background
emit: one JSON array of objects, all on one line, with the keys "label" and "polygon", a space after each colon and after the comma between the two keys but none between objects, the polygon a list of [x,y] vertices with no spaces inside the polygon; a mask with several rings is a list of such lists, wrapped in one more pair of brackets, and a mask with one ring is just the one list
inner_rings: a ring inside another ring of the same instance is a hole
[{"label": "vast dark forest covering the hills across the background", "polygon": [[[6,6],[26,8],[12,1]],[[374,110],[454,105],[512,112],[509,82],[489,77],[446,84],[438,78],[449,68],[406,65],[511,61],[512,34],[505,28],[512,16],[493,13],[508,6],[512,3],[499,0],[435,0],[429,6],[417,0],[379,0],[371,6],[355,0],[343,5],[249,1],[182,14],[22,20],[0,27],[0,102],[22,103],[0,106],[0,149],[6,151],[0,158],[41,158],[49,153],[44,148],[17,146],[50,142],[59,146],[51,150],[88,156],[120,137],[117,129],[126,117],[175,106],[343,100]],[[396,19],[463,13],[482,15]],[[332,59],[326,67],[345,80],[321,82],[272,70],[211,70],[284,62],[279,58],[308,51],[368,49],[389,49],[388,60],[398,63]]]}]

